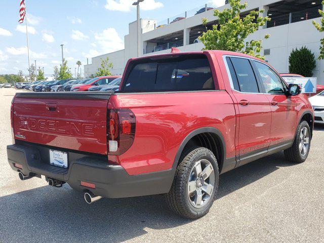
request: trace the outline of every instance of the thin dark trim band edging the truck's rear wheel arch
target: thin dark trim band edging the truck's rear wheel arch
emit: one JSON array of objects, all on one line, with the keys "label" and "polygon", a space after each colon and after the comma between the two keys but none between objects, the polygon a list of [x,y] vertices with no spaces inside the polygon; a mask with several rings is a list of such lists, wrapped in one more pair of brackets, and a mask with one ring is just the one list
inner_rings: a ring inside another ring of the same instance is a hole
[{"label": "thin dark trim band edging the truck's rear wheel arch", "polygon": [[[201,133],[213,133],[215,134],[221,143],[221,154],[222,154],[222,158],[221,158],[221,163],[224,163],[225,159],[226,159],[226,145],[225,145],[225,140],[224,137],[222,135],[222,133],[213,127],[204,127],[204,128],[198,128],[192,132],[190,132],[185,138],[184,140],[181,142],[180,147],[177,151],[177,154],[175,156],[175,159],[173,161],[173,166],[172,169],[175,172],[179,163],[179,159],[181,157],[181,154],[185,148],[185,146],[187,145],[187,143],[190,141],[190,139],[192,139],[194,136],[201,134]],[[221,172],[221,168],[219,168],[220,172]]]}]

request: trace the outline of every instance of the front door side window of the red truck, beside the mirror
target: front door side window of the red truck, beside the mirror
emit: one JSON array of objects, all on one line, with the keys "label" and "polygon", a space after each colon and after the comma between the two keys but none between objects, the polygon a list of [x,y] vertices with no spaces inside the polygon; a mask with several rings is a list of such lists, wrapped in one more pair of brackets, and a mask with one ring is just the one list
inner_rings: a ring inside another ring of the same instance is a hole
[{"label": "front door side window of the red truck, beside the mirror", "polygon": [[265,92],[268,94],[285,94],[280,77],[267,65],[254,61],[262,79]]}]

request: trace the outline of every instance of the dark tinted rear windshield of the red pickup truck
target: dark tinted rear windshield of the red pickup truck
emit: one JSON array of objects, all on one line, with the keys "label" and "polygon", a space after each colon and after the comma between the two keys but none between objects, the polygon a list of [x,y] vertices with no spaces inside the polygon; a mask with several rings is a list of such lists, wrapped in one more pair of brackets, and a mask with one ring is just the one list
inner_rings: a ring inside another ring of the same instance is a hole
[{"label": "dark tinted rear windshield of the red pickup truck", "polygon": [[209,61],[205,55],[163,60],[145,60],[130,67],[123,92],[214,90]]}]

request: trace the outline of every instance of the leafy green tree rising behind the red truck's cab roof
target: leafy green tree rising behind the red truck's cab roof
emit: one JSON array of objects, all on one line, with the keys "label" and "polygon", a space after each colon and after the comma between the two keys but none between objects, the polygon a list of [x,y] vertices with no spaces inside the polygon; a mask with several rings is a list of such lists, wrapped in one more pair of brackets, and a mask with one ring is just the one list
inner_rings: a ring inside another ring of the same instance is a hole
[{"label": "leafy green tree rising behind the red truck's cab roof", "polygon": [[[248,15],[241,18],[240,12],[247,8],[248,4],[240,4],[239,0],[229,0],[230,9],[224,9],[222,12],[215,10],[214,16],[218,17],[218,24],[213,28],[204,32],[200,37],[200,41],[205,45],[204,50],[225,50],[245,53],[264,59],[260,54],[262,49],[262,40],[252,40],[246,42],[246,38],[257,31],[259,26],[263,26],[269,17],[262,17],[259,11],[251,11]],[[208,20],[203,18],[203,24],[207,25]],[[269,35],[264,36],[265,39]]]}]

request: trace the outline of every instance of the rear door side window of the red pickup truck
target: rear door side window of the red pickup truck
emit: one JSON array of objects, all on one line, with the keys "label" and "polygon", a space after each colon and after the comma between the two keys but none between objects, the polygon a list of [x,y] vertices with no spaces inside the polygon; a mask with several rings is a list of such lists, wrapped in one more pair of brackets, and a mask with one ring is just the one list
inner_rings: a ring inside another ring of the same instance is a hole
[{"label": "rear door side window of the red pickup truck", "polygon": [[259,93],[257,79],[254,75],[250,61],[245,58],[230,58],[237,78],[239,91],[246,93]]}]

